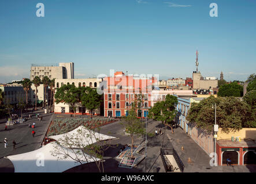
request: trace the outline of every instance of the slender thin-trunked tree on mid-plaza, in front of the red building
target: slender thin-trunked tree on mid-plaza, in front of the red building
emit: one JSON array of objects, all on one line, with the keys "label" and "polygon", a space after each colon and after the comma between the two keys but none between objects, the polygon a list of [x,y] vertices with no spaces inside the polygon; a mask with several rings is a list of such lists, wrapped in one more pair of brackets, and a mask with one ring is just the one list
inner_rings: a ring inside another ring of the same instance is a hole
[{"label": "slender thin-trunked tree on mid-plaza, in front of the red building", "polygon": [[144,122],[140,121],[138,118],[138,102],[142,100],[142,94],[138,94],[135,96],[135,100],[131,109],[128,110],[128,115],[123,116],[120,122],[121,125],[124,126],[125,132],[129,134],[131,137],[131,157],[133,156],[133,147],[135,136],[142,136],[145,133]]}]

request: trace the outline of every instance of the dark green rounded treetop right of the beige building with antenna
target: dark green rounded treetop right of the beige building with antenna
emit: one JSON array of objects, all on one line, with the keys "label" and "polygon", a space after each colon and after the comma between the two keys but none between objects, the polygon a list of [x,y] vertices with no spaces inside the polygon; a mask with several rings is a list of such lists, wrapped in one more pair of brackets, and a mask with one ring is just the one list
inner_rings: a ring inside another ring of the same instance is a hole
[{"label": "dark green rounded treetop right of the beige building with antenna", "polygon": [[224,84],[218,90],[218,97],[243,97],[243,86],[236,82]]}]

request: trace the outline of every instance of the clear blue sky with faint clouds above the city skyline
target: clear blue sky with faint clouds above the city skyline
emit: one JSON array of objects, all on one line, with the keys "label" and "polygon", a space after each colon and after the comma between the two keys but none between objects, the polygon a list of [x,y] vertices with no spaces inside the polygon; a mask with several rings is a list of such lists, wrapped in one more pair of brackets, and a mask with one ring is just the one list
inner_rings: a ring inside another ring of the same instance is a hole
[{"label": "clear blue sky with faint clouds above the city skyline", "polygon": [[0,83],[60,62],[75,63],[75,78],[192,77],[196,50],[203,76],[245,81],[256,73],[255,10],[256,0],[1,0]]}]

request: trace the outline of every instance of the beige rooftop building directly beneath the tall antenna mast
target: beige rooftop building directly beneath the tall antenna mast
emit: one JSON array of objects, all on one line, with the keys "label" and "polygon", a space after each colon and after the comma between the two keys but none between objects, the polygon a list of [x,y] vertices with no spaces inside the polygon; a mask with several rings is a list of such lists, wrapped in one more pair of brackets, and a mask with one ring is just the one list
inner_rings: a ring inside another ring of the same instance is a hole
[{"label": "beige rooftop building directly beneath the tall antenna mast", "polygon": [[200,72],[193,72],[193,89],[213,89],[218,86],[218,79],[203,78]]}]

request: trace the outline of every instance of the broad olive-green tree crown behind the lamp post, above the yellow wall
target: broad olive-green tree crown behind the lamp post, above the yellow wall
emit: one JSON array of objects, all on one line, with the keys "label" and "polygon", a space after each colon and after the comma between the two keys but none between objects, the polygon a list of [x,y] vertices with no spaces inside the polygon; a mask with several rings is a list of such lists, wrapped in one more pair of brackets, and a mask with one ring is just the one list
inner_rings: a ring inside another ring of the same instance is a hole
[{"label": "broad olive-green tree crown behind the lamp post, above the yellow wall", "polygon": [[213,131],[214,108],[216,104],[217,124],[224,132],[238,131],[246,127],[249,112],[248,105],[235,97],[210,96],[203,99],[198,104],[192,103],[188,110],[187,120],[196,127],[202,128],[207,132]]}]

